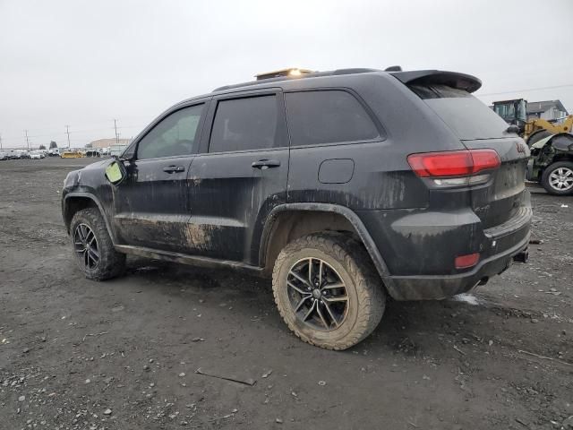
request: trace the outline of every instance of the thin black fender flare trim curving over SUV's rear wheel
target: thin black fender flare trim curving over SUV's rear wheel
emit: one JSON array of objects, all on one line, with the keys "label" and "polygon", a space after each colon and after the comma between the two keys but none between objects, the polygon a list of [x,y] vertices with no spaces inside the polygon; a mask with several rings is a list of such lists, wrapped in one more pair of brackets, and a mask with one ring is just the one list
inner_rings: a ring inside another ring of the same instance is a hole
[{"label": "thin black fender flare trim curving over SUV's rear wheel", "polygon": [[368,230],[364,227],[362,220],[356,215],[355,211],[352,211],[350,208],[346,206],[341,206],[339,204],[331,204],[331,203],[285,203],[280,204],[272,209],[269,212],[269,216],[267,218],[267,222],[265,223],[265,227],[262,231],[261,236],[261,248],[259,251],[259,262],[262,267],[265,265],[265,259],[267,257],[267,248],[269,245],[270,239],[270,232],[272,231],[273,224],[275,219],[277,219],[277,215],[281,212],[285,211],[315,211],[315,212],[334,212],[338,213],[345,217],[350,224],[355,228],[356,233],[362,240],[366,251],[372,258],[372,262],[374,263],[374,267],[381,276],[382,281],[384,282],[386,288],[390,289],[392,285],[392,280],[390,278],[390,273],[388,270],[388,266],[384,259],[382,258],[380,251],[378,250],[378,246],[372,240],[372,236],[368,233]]}]

